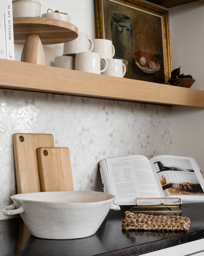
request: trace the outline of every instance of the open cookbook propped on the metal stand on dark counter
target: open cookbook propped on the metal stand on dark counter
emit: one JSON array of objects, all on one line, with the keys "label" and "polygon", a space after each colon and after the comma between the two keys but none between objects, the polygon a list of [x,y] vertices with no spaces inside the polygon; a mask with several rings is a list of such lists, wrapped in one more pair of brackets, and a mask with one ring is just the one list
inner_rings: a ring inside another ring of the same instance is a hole
[{"label": "open cookbook propped on the metal stand on dark counter", "polygon": [[115,195],[119,205],[135,205],[139,197],[204,202],[204,177],[191,157],[128,155],[104,159],[99,168],[104,192]]}]

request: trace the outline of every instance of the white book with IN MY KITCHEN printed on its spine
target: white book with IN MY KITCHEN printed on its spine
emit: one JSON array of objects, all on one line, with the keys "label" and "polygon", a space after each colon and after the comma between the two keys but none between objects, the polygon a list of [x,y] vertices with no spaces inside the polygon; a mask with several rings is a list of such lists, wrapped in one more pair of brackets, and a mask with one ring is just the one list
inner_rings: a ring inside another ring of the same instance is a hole
[{"label": "white book with IN MY KITCHEN printed on its spine", "polygon": [[5,20],[5,38],[6,38],[7,59],[15,60],[12,0],[7,0],[6,10],[5,10],[5,14],[4,14],[4,20]]}]

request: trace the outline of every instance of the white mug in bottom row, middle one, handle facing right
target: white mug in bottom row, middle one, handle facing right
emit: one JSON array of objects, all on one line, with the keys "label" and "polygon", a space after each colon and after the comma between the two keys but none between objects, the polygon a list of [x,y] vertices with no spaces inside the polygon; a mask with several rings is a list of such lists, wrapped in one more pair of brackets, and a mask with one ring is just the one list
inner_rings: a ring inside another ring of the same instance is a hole
[{"label": "white mug in bottom row, middle one, handle facing right", "polygon": [[75,70],[101,74],[107,69],[107,60],[97,52],[81,52],[75,57]]}]

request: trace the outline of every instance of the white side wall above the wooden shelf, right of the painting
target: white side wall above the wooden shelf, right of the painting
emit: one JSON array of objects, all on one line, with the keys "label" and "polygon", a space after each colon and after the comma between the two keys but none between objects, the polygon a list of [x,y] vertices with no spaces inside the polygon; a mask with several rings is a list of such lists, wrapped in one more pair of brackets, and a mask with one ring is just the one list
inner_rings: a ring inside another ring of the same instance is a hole
[{"label": "white side wall above the wooden shelf, right of the painting", "polygon": [[203,12],[202,1],[169,9],[173,68],[181,66],[181,74],[196,79],[191,88],[200,90],[204,90]]}]

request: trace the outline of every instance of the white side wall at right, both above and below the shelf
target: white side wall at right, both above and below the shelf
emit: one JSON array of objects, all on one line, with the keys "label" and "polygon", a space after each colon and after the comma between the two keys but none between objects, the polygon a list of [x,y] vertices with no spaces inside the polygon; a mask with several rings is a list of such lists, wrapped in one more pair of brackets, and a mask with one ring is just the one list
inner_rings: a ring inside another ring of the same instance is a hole
[{"label": "white side wall at right, both above and below the shelf", "polygon": [[[173,69],[196,80],[192,89],[204,90],[204,3],[169,9]],[[204,171],[204,109],[172,107],[172,152],[194,157]]]}]

